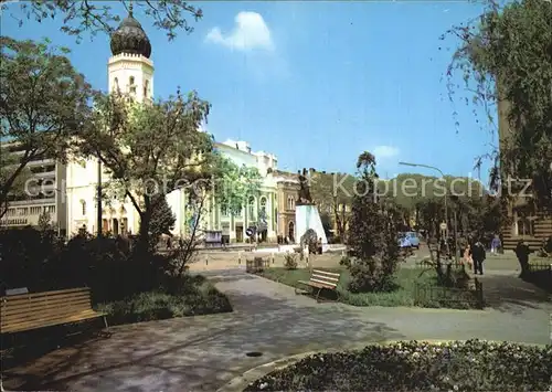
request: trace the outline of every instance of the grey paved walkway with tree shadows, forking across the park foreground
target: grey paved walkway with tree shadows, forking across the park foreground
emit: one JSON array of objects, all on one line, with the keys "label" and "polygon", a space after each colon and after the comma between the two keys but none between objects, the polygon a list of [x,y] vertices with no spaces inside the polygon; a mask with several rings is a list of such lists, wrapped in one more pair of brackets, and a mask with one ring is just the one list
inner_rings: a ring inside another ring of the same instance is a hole
[{"label": "grey paved walkway with tree shadows, forking across the park foreground", "polygon": [[[214,391],[258,364],[325,348],[393,339],[550,341],[552,310],[544,301],[518,304],[514,311],[354,308],[316,304],[241,269],[208,274],[231,297],[234,312],[117,327],[110,339],[56,350],[6,372],[4,386]],[[263,356],[250,358],[248,351]]]}]

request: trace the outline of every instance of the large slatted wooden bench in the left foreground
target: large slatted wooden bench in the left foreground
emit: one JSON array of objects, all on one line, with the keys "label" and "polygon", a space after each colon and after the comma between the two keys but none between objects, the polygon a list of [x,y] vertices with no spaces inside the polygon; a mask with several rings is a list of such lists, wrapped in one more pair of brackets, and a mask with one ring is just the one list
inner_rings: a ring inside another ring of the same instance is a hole
[{"label": "large slatted wooden bench in the left foreground", "polygon": [[0,297],[2,335],[99,317],[108,332],[106,315],[92,308],[91,289],[86,287]]}]

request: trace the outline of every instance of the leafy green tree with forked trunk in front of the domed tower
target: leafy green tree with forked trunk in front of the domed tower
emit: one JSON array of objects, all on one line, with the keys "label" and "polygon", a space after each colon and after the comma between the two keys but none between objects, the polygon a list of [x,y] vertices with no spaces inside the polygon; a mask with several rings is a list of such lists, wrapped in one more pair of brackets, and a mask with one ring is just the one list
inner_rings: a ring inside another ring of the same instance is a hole
[{"label": "leafy green tree with forked trunk in front of the domed tower", "polygon": [[194,92],[184,97],[180,91],[151,105],[119,94],[98,94],[95,104],[79,150],[99,157],[117,198],[135,206],[140,216],[138,250],[142,250],[149,243],[151,214],[162,200],[153,197],[212,179],[213,139],[198,130],[210,105]]}]

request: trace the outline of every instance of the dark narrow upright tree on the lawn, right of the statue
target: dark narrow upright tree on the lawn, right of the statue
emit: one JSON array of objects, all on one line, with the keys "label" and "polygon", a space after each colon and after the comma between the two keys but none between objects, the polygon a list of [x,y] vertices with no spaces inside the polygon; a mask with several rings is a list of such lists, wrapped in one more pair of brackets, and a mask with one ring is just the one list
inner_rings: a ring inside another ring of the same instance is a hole
[{"label": "dark narrow upright tree on the lawn, right of the statue", "polygon": [[394,286],[400,261],[397,224],[400,216],[376,192],[375,158],[363,152],[357,162],[358,194],[353,198],[348,245],[352,292],[385,292]]}]

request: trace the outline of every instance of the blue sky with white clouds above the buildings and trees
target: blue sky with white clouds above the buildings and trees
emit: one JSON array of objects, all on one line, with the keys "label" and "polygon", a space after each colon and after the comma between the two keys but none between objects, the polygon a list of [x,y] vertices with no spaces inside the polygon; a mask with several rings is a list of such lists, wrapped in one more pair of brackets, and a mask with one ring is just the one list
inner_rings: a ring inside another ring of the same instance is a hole
[{"label": "blue sky with white clouds above the buildings and trees", "polygon": [[[473,2],[206,2],[191,34],[168,42],[140,12],[152,43],[155,94],[197,89],[211,102],[208,130],[244,139],[277,155],[279,168],[354,171],[363,150],[383,177],[420,171],[399,161],[468,176],[490,151],[473,108],[450,104],[442,76],[457,42],[439,35],[481,11]],[[123,9],[115,6],[116,10]],[[50,38],[96,88],[107,88],[108,36],[77,44],[61,21],[23,27],[17,3],[2,15],[2,34]],[[438,50],[442,47],[443,50]],[[456,133],[453,112],[459,113]],[[487,166],[488,167],[488,166]],[[481,179],[487,178],[481,170]]]}]

